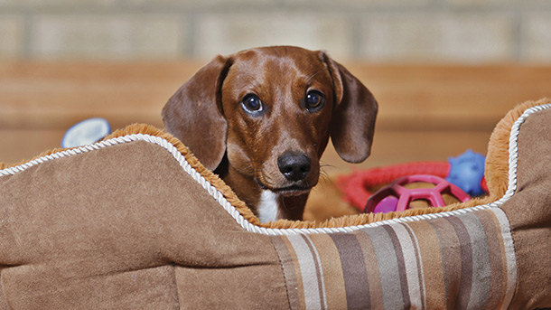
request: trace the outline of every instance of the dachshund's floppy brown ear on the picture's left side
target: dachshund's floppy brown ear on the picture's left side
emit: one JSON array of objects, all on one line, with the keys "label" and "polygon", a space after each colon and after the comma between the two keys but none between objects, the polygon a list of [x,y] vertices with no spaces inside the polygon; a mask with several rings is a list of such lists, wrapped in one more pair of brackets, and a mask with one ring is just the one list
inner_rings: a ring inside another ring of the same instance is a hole
[{"label": "dachshund's floppy brown ear on the picture's left side", "polygon": [[166,130],[191,149],[201,164],[216,169],[226,152],[228,123],[220,89],[231,61],[218,56],[198,70],[163,108]]}]

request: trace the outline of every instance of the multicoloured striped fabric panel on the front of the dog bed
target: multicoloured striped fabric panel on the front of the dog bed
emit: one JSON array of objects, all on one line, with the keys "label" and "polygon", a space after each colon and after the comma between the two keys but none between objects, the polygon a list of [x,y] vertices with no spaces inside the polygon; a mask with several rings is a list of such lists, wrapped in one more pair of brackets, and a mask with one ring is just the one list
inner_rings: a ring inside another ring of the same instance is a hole
[{"label": "multicoloured striped fabric panel on the front of the dog bed", "polygon": [[291,309],[501,309],[517,281],[509,221],[499,208],[271,238]]}]

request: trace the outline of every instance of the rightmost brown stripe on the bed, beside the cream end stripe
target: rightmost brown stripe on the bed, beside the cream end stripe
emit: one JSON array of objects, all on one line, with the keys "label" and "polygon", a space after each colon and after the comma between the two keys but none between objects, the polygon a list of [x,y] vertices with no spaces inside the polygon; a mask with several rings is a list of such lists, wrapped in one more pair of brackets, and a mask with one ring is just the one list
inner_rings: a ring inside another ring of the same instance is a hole
[{"label": "rightmost brown stripe on the bed, beside the cream end stripe", "polygon": [[478,212],[477,215],[486,233],[488,251],[490,254],[490,293],[488,294],[489,298],[486,308],[496,309],[505,296],[503,269],[506,269],[504,267],[507,266],[502,262],[500,224],[490,211],[481,211]]}]

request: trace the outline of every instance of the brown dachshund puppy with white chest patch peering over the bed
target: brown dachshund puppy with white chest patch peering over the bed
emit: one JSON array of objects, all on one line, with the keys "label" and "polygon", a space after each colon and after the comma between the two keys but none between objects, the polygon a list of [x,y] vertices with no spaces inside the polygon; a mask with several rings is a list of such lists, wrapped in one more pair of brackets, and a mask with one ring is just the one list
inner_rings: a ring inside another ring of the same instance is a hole
[{"label": "brown dachshund puppy with white chest patch peering over the bed", "polygon": [[218,56],[163,108],[164,126],[260,221],[300,220],[329,137],[369,156],[377,101],[325,52],[274,46]]}]

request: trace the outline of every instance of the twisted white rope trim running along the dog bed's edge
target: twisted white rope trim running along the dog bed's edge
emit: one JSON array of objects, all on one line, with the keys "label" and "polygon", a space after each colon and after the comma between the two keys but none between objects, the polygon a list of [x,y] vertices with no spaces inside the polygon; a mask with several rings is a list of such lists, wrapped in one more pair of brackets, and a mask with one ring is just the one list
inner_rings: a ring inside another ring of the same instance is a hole
[{"label": "twisted white rope trim running along the dog bed's edge", "polygon": [[175,146],[173,146],[167,140],[159,136],[150,136],[150,135],[144,135],[144,134],[119,136],[116,138],[98,142],[90,146],[80,146],[70,150],[53,153],[51,155],[45,155],[40,158],[34,159],[30,162],[27,162],[25,164],[20,164],[11,168],[0,170],[0,176],[17,174],[17,173],[23,172],[24,170],[34,165],[42,164],[44,162],[48,162],[54,159],[59,159],[65,156],[79,155],[90,151],[98,150],[107,146],[117,146],[128,142],[145,141],[145,142],[153,143],[158,146],[163,146],[164,149],[166,149],[171,155],[173,155],[173,157],[180,164],[180,166],[182,166],[183,170],[187,174],[190,174],[193,180],[200,183],[201,186],[210,194],[210,196],[212,196],[217,202],[219,202],[219,204],[224,208],[224,210],[228,211],[229,215],[231,215],[231,217],[247,231],[257,232],[257,233],[266,234],[266,235],[351,232],[354,230],[361,230],[361,229],[370,228],[370,227],[378,227],[378,226],[387,225],[387,224],[431,220],[431,219],[444,218],[448,216],[461,215],[472,211],[481,211],[481,210],[486,210],[490,208],[496,208],[496,207],[499,207],[504,202],[507,202],[517,190],[518,134],[519,134],[520,126],[522,125],[522,123],[525,122],[525,120],[530,115],[538,111],[544,110],[546,108],[551,108],[551,104],[528,108],[520,117],[518,117],[518,119],[511,127],[510,136],[509,136],[509,185],[508,185],[507,192],[503,195],[503,197],[500,198],[500,200],[496,202],[490,202],[488,204],[475,206],[472,208],[459,209],[455,211],[446,211],[441,213],[416,215],[416,216],[392,219],[387,221],[377,221],[374,223],[357,225],[357,226],[347,226],[347,227],[340,227],[340,228],[316,228],[316,229],[267,229],[264,227],[253,225],[249,221],[245,220],[245,218],[241,215],[241,213],[239,213],[239,211],[233,205],[231,205],[231,203],[228,202],[228,200],[224,197],[224,195],[221,192],[219,192],[219,190],[216,187],[212,186],[212,184],[210,184],[201,174],[199,174],[195,169],[193,169],[193,167],[191,167],[191,164],[188,163],[185,157],[178,151],[178,149]]}]

